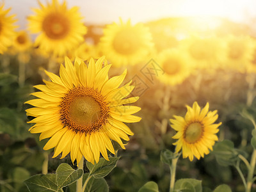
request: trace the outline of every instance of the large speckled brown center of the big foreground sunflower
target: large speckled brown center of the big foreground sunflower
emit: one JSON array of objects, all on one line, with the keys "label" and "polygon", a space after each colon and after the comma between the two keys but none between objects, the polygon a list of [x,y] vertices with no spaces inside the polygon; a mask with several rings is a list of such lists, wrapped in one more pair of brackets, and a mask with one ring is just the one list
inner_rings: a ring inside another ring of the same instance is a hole
[{"label": "large speckled brown center of the big foreground sunflower", "polygon": [[70,90],[60,104],[61,122],[75,132],[99,131],[108,122],[109,108],[104,97],[93,88]]}]

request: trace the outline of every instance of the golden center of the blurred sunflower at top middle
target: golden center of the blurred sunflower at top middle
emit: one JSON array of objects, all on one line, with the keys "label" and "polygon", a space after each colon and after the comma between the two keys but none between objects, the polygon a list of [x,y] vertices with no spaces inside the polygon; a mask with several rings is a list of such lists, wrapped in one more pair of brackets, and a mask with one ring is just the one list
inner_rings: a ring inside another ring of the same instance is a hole
[{"label": "golden center of the blurred sunflower at top middle", "polygon": [[138,34],[132,29],[119,31],[113,39],[113,48],[120,54],[133,54],[140,47]]}]

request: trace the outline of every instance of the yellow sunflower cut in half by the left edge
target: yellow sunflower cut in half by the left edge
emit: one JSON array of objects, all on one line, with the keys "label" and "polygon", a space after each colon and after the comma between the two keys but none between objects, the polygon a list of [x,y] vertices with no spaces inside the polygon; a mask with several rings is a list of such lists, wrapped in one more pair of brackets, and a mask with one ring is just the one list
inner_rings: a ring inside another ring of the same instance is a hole
[{"label": "yellow sunflower cut in half by the left edge", "polygon": [[10,12],[10,8],[4,10],[4,4],[2,4],[0,6],[0,54],[3,54],[12,45],[12,39],[15,36],[15,26],[13,25],[15,15],[7,16],[8,12]]}]

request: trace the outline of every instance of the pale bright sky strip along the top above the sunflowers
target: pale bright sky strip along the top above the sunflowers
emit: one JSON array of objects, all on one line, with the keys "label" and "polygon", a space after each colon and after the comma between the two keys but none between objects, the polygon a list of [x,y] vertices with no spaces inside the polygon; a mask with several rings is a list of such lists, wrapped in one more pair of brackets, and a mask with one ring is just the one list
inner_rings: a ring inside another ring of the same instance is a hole
[{"label": "pale bright sky strip along the top above the sunflowers", "polygon": [[[36,0],[0,1],[5,3],[5,8],[12,8],[11,13],[17,15],[21,29],[26,28],[26,16],[33,14],[31,8],[39,8]],[[45,4],[47,0],[40,2]],[[87,24],[109,24],[118,22],[119,17],[131,19],[132,23],[206,15],[245,23],[248,18],[256,18],[255,0],[67,0],[67,4],[69,8],[79,6]]]}]

